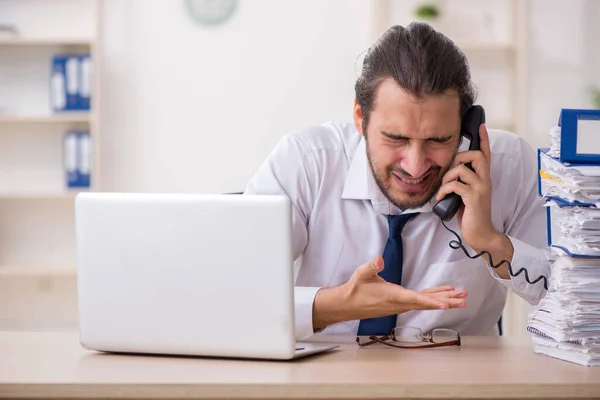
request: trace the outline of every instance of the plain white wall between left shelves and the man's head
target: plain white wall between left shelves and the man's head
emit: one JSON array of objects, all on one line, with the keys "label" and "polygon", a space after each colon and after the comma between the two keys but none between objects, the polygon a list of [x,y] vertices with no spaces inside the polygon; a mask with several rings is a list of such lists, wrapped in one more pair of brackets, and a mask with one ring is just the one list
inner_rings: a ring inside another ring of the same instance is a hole
[{"label": "plain white wall between left shelves and the man's head", "polygon": [[104,2],[105,190],[241,190],[286,132],[351,118],[370,2],[242,0],[213,28],[182,3]]}]

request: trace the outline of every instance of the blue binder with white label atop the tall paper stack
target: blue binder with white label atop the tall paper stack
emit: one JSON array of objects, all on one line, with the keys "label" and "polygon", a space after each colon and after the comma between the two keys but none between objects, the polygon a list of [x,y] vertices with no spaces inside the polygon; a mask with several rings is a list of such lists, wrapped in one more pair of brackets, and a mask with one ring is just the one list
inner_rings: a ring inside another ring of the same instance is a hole
[{"label": "blue binder with white label atop the tall paper stack", "polygon": [[600,164],[600,110],[562,109],[560,161]]}]

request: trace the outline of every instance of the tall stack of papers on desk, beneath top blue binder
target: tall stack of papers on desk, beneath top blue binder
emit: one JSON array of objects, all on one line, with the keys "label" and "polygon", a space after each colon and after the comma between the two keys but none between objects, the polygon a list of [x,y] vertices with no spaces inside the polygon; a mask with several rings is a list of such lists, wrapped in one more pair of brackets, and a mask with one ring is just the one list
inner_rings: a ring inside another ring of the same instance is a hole
[{"label": "tall stack of papers on desk, beneath top blue binder", "polygon": [[600,164],[561,162],[565,138],[556,128],[550,136],[552,148],[538,152],[538,188],[554,262],[527,330],[536,353],[600,366]]}]

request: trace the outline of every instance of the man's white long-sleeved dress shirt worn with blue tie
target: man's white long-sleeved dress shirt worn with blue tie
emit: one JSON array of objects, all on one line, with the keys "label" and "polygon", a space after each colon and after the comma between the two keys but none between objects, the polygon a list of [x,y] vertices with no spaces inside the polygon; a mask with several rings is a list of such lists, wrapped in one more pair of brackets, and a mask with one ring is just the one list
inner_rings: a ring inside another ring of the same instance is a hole
[{"label": "man's white long-sleeved dress shirt worn with blue tie", "polygon": [[[513,271],[528,270],[530,280],[549,275],[546,214],[537,196],[537,157],[520,137],[490,130],[492,220],[514,247]],[[468,148],[468,141],[461,151]],[[284,194],[293,209],[296,338],[314,335],[317,291],[345,283],[355,269],[383,255],[388,239],[386,214],[402,210],[381,193],[366,156],[364,138],[353,124],[328,122],[284,136],[248,183],[246,194]],[[452,285],[468,292],[466,308],[409,311],[397,325],[428,332],[455,329],[464,335],[498,334],[508,289],[531,304],[544,295],[543,280],[526,282],[524,273],[502,279],[483,257],[469,259],[453,250],[454,236],[431,211],[435,197],[418,210],[402,232],[402,286],[421,290]],[[456,218],[446,223],[460,234]],[[475,251],[463,244],[470,254]],[[500,260],[494,260],[498,263]],[[328,326],[316,334],[356,335],[359,320]]]}]

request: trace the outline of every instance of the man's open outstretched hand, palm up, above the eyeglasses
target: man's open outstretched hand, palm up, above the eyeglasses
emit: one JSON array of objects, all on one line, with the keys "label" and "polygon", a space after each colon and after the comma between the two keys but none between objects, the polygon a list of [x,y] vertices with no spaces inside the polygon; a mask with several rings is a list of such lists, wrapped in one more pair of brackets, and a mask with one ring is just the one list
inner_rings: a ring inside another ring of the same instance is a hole
[{"label": "man's open outstretched hand, palm up, above the eyeglasses", "polygon": [[341,286],[321,289],[313,305],[313,327],[365,318],[400,314],[410,310],[447,310],[467,306],[464,290],[438,286],[420,292],[387,282],[378,274],[383,258],[375,257],[354,271]]}]

